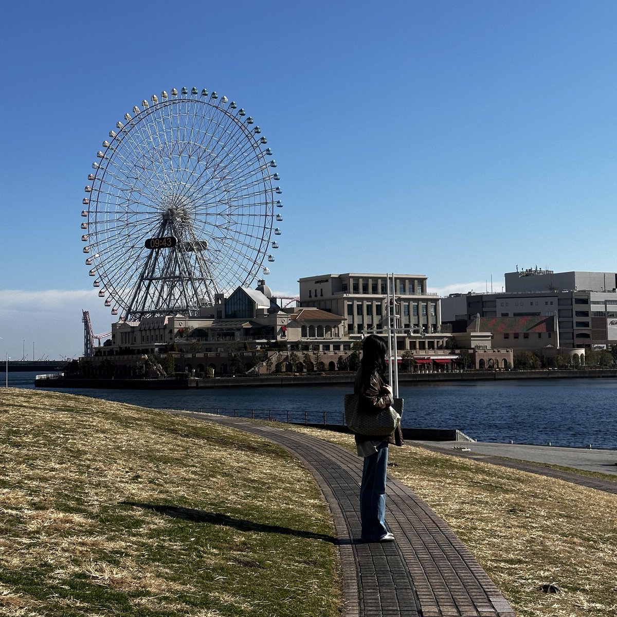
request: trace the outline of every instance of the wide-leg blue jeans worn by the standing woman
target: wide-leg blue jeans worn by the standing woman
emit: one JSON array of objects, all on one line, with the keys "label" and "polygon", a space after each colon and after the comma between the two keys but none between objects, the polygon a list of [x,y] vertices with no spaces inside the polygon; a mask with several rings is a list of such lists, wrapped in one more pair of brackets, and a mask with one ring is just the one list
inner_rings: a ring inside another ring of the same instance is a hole
[{"label": "wide-leg blue jeans worn by the standing woman", "polygon": [[377,452],[364,457],[362,484],[360,485],[360,521],[362,539],[379,540],[386,528],[386,471],[387,441],[377,446]]}]

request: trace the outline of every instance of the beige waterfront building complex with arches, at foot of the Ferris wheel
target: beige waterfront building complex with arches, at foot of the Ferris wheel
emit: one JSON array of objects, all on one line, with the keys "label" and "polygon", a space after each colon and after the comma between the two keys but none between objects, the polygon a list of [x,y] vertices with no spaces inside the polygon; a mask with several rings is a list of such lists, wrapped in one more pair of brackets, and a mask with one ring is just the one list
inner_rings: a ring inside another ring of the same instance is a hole
[{"label": "beige waterfront building complex with arches, at foot of the Ferris wheel", "polygon": [[111,362],[118,376],[143,374],[144,367],[162,376],[173,358],[175,371],[195,376],[336,371],[349,368],[366,334],[387,331],[388,312],[398,362],[416,371],[458,370],[462,345],[469,346],[468,366],[488,368],[489,355],[491,368],[511,365],[511,350],[493,350],[491,333],[442,329],[439,299],[426,292],[426,276],[395,275],[390,292],[389,299],[386,275],[313,276],[300,280],[299,306],[287,308],[259,281],[256,289],[217,294],[196,316],[114,323],[110,341],[88,358],[88,370],[109,373]]}]

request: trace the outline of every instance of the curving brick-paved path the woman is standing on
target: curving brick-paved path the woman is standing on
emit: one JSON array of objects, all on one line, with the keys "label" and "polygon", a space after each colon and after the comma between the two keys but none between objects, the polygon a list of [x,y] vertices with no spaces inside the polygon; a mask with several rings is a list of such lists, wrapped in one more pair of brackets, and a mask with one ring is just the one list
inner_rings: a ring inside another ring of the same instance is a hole
[{"label": "curving brick-paved path the woman is standing on", "polygon": [[387,481],[386,523],[396,542],[360,537],[362,459],[289,429],[241,418],[181,413],[260,434],[311,471],[333,515],[342,570],[345,617],[514,617],[515,613],[467,547],[408,487]]}]

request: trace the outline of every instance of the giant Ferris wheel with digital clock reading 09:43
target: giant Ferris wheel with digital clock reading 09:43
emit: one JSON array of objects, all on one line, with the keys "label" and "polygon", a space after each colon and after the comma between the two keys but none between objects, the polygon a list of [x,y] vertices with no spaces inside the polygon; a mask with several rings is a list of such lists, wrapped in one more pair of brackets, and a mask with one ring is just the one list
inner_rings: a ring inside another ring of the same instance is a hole
[{"label": "giant Ferris wheel with digital clock reading 09:43", "polygon": [[197,315],[270,272],[283,191],[266,144],[244,109],[206,89],[152,94],[117,122],[81,212],[89,275],[113,315]]}]

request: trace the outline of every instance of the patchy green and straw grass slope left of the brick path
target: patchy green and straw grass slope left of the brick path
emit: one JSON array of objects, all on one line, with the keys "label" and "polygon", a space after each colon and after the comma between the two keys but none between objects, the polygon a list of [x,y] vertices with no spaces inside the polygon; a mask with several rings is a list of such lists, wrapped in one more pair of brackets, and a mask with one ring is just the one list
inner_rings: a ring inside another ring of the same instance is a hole
[{"label": "patchy green and straw grass slope left of the brick path", "polygon": [[0,613],[339,614],[329,511],[257,436],[0,391]]}]

